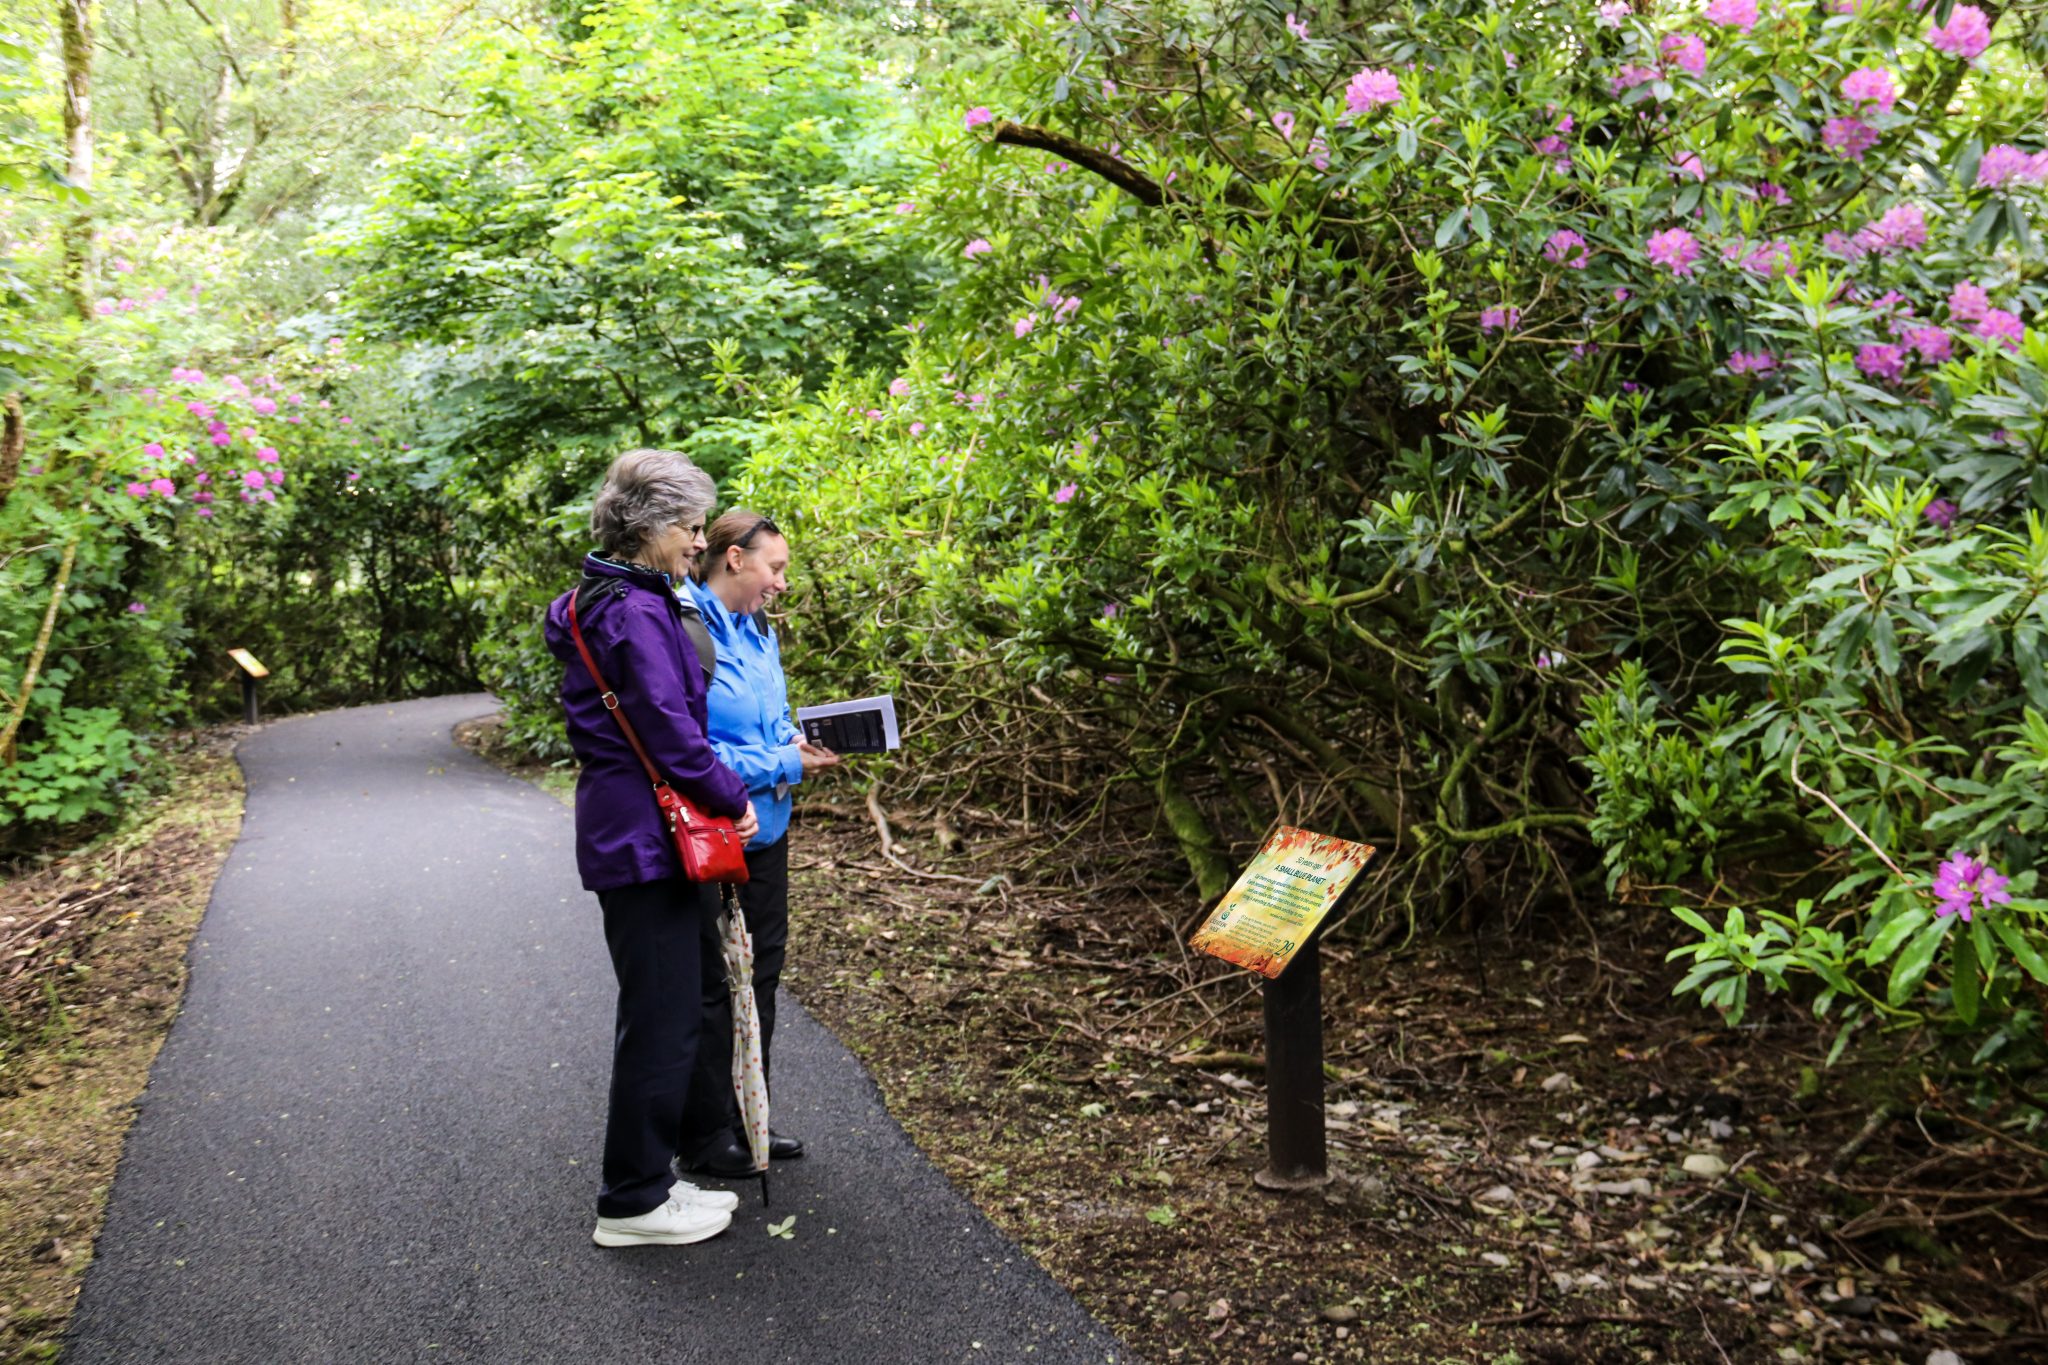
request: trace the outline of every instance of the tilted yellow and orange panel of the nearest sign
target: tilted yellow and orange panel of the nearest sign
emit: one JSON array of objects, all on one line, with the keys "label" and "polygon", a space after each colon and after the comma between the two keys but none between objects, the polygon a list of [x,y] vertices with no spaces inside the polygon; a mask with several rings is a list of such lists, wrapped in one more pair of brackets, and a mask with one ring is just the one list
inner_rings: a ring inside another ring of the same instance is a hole
[{"label": "tilted yellow and orange panel of the nearest sign", "polygon": [[1370,860],[1370,843],[1282,825],[1196,929],[1192,945],[1278,976]]}]

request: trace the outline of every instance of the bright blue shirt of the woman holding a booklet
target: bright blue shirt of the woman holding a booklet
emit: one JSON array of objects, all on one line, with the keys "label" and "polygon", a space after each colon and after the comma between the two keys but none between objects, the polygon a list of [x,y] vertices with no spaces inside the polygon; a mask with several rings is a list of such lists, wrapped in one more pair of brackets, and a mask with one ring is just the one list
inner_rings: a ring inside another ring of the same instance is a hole
[{"label": "bright blue shirt of the woman holding a booklet", "polygon": [[788,679],[782,675],[782,645],[774,630],[762,630],[752,616],[727,612],[719,593],[702,583],[692,579],[686,589],[719,655],[719,673],[711,679],[707,698],[711,749],[748,784],[754,814],[762,823],[748,847],[764,849],[788,833],[793,802],[788,788],[776,796],[776,784],[803,782],[799,731],[788,714]]}]

